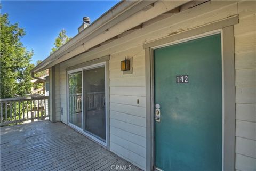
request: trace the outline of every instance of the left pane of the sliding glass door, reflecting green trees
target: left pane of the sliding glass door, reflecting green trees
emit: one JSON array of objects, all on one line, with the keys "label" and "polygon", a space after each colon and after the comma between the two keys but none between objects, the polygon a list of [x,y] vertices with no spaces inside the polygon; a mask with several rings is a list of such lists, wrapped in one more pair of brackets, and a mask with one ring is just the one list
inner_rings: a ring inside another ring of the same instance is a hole
[{"label": "left pane of the sliding glass door, reflecting green trees", "polygon": [[82,128],[82,72],[68,75],[69,123]]}]

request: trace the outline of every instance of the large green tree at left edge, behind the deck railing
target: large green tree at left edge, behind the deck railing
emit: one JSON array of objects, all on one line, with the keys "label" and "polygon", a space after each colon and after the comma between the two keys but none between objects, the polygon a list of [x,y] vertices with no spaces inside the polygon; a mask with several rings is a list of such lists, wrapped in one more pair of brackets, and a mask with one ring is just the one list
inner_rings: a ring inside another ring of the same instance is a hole
[{"label": "large green tree at left edge, behind the deck railing", "polygon": [[0,97],[25,96],[30,93],[30,64],[33,51],[28,51],[20,38],[25,36],[18,23],[11,24],[8,14],[0,14]]}]

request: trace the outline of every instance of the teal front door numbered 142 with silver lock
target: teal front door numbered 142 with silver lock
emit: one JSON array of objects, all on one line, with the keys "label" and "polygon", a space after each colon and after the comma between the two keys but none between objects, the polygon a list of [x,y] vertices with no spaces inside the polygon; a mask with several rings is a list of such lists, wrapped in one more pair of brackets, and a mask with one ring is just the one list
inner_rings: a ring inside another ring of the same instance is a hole
[{"label": "teal front door numbered 142 with silver lock", "polygon": [[221,171],[221,35],[155,49],[154,88],[155,167]]}]

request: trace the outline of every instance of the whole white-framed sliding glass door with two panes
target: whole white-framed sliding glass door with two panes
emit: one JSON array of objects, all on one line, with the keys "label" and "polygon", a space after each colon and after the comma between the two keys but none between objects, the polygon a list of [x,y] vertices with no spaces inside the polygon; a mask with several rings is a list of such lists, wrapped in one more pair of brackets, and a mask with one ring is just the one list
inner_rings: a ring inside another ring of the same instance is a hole
[{"label": "whole white-framed sliding glass door with two panes", "polygon": [[106,144],[105,63],[68,71],[69,125]]}]

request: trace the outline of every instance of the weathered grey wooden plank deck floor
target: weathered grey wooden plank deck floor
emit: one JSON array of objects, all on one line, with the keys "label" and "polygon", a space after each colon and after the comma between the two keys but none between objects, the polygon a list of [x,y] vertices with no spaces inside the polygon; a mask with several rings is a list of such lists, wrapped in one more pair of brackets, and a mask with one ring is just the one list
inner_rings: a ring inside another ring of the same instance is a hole
[{"label": "weathered grey wooden plank deck floor", "polygon": [[140,170],[63,123],[1,127],[0,170],[118,170],[112,165]]}]

